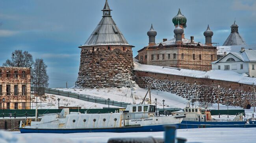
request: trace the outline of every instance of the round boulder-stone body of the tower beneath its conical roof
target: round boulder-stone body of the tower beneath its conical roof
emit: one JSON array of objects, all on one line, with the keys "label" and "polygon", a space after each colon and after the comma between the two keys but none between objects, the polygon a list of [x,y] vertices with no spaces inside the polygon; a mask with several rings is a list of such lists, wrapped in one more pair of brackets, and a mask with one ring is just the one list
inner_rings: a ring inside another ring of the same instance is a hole
[{"label": "round boulder-stone body of the tower beneath its conical roof", "polygon": [[81,49],[77,87],[101,88],[129,85],[134,63],[132,46],[101,45]]}]

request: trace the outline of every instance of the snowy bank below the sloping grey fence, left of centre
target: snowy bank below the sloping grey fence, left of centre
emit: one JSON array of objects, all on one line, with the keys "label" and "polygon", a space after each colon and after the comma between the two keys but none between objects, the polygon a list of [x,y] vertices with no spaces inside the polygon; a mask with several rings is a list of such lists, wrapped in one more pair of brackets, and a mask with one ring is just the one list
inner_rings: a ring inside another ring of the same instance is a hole
[{"label": "snowy bank below the sloping grey fence, left of centre", "polygon": [[[108,107],[108,105],[105,104],[99,104],[99,103],[93,103],[93,102],[88,102],[88,101],[83,101],[79,100],[76,98],[71,98],[71,97],[65,97],[65,96],[59,96],[55,94],[45,94],[45,96],[42,96],[42,98],[37,98],[37,102],[42,101],[42,103],[39,104],[38,109],[58,109],[58,100],[59,101],[59,106],[68,106],[68,107],[81,107],[82,109],[99,109],[103,107]],[[32,99],[33,102],[36,102],[36,99]],[[36,103],[32,103],[33,109],[35,109]],[[109,107],[115,107],[119,108],[117,106],[112,106],[109,105]]]}]

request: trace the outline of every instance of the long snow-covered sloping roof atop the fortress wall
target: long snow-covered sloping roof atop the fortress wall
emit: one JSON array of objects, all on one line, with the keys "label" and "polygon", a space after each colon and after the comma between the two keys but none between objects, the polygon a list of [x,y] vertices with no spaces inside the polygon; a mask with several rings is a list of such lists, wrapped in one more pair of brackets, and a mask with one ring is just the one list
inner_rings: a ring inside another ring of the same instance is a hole
[{"label": "long snow-covered sloping roof atop the fortress wall", "polygon": [[223,70],[211,70],[211,71],[196,71],[190,69],[177,69],[172,67],[162,67],[158,65],[143,65],[138,62],[134,62],[135,71],[143,72],[155,72],[160,74],[171,74],[177,76],[188,76],[193,78],[208,78],[211,80],[223,80],[232,81],[242,84],[252,85],[256,83],[256,78],[248,77],[247,74],[239,74],[233,71],[223,71]]}]

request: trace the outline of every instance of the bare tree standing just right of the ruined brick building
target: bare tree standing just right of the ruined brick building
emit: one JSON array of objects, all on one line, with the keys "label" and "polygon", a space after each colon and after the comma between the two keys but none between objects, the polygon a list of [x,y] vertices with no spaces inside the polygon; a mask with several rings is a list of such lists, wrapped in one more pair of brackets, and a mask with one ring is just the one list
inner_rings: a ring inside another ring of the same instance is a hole
[{"label": "bare tree standing just right of the ruined brick building", "polygon": [[47,75],[47,65],[43,59],[35,59],[34,68],[32,71],[32,81],[38,89],[41,87],[48,87],[49,76]]}]

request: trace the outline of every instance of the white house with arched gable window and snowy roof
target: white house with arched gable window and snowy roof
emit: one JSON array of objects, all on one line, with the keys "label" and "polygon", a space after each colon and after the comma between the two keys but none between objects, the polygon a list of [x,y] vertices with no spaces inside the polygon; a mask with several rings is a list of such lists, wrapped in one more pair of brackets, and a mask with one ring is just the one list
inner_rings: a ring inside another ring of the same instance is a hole
[{"label": "white house with arched gable window and snowy roof", "polygon": [[256,77],[256,50],[241,48],[239,52],[230,52],[211,63],[211,69],[230,70]]}]

